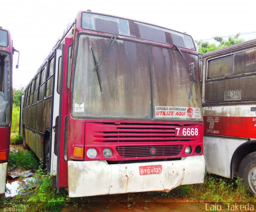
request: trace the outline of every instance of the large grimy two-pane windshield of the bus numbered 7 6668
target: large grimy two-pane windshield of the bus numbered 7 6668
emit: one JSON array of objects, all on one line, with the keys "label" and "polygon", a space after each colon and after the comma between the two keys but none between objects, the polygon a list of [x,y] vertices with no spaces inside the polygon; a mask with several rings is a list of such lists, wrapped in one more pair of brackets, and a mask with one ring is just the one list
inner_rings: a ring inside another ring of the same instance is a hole
[{"label": "large grimy two-pane windshield of the bus numbered 7 6668", "polygon": [[[108,43],[112,46],[108,47]],[[106,48],[108,53],[97,73],[95,66]],[[159,106],[201,107],[199,83],[194,84],[192,98],[189,98],[190,75],[174,48],[80,34],[76,49],[72,83],[72,116],[75,118],[155,119],[159,117],[154,110]],[[198,80],[198,55],[183,54]],[[183,110],[180,108],[177,110]]]}]

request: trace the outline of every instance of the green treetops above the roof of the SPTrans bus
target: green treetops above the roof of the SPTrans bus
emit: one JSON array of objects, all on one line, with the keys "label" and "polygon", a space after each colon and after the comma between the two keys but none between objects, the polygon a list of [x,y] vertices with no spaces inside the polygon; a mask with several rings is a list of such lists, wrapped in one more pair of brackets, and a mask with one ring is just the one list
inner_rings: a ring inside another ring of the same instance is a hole
[{"label": "green treetops above the roof of the SPTrans bus", "polygon": [[196,44],[198,46],[198,51],[200,53],[207,53],[209,51],[214,51],[217,49],[222,49],[224,47],[228,47],[234,44],[242,43],[244,42],[244,39],[239,39],[240,33],[237,33],[234,37],[228,37],[228,40],[224,40],[221,36],[215,36],[213,39],[218,43],[209,43],[208,41],[196,41]]}]

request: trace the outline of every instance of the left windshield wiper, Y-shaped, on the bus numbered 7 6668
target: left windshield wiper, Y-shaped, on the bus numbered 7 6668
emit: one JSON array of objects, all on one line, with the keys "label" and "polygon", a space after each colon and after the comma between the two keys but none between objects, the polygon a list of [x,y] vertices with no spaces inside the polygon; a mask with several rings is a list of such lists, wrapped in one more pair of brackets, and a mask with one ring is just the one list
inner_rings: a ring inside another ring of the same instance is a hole
[{"label": "left windshield wiper, Y-shaped, on the bus numbered 7 6668", "polygon": [[106,46],[105,50],[103,51],[103,54],[100,58],[100,60],[96,61],[96,57],[94,55],[94,52],[93,52],[93,49],[91,47],[91,51],[92,51],[92,56],[93,56],[93,59],[94,59],[94,64],[95,64],[95,67],[93,70],[96,70],[96,73],[97,73],[97,77],[98,77],[98,82],[99,82],[99,85],[100,85],[100,92],[102,92],[102,86],[101,86],[101,82],[100,82],[100,74],[99,74],[99,68],[100,68],[100,65],[102,64],[104,58],[106,57],[106,55],[108,54],[108,51],[110,50],[110,47],[112,47],[113,43],[115,42],[116,38],[118,37],[117,34],[112,34],[109,42],[108,42],[108,45]]}]

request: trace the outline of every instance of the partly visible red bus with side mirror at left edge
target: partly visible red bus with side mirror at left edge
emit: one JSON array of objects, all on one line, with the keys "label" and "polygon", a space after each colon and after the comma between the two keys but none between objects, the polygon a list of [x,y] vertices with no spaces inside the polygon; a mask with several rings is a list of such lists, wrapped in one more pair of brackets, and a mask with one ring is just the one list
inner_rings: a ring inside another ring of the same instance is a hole
[{"label": "partly visible red bus with side mirror at left edge", "polygon": [[[12,39],[0,27],[0,195],[5,192],[12,121]],[[18,51],[17,51],[18,52]],[[18,68],[18,65],[16,65]]]}]

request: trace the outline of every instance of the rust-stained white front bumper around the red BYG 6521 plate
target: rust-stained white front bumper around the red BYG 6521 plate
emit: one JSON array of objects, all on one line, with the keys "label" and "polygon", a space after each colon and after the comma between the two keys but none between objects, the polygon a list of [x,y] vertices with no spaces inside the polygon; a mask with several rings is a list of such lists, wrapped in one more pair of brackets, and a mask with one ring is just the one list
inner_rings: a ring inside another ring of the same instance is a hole
[{"label": "rust-stained white front bumper around the red BYG 6521 plate", "polygon": [[[162,165],[162,173],[140,175],[140,166]],[[70,197],[142,191],[169,192],[179,185],[204,182],[204,156],[178,161],[108,165],[106,161],[68,161]]]}]

